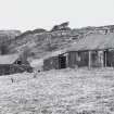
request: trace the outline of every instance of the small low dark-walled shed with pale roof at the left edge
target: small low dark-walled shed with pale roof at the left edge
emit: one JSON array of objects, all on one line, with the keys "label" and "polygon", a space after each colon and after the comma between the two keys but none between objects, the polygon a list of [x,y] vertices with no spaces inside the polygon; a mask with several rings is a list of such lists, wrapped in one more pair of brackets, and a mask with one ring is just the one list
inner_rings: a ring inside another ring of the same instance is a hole
[{"label": "small low dark-walled shed with pale roof at the left edge", "polygon": [[0,55],[0,75],[31,72],[29,62],[21,59],[20,54]]}]

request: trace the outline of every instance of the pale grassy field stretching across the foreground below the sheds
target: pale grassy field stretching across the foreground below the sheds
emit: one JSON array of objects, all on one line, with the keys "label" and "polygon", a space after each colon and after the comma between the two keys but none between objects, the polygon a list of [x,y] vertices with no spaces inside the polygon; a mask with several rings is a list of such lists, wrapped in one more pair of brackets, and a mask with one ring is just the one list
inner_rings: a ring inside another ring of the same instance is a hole
[{"label": "pale grassy field stretching across the foreground below the sheds", "polygon": [[0,114],[114,114],[114,69],[1,76]]}]

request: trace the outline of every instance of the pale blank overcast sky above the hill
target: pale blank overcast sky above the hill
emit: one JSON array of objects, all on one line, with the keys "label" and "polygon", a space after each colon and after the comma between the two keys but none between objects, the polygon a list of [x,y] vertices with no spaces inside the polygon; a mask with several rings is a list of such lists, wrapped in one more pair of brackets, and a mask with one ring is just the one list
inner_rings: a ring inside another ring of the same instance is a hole
[{"label": "pale blank overcast sky above the hill", "polygon": [[114,25],[114,0],[0,0],[0,29]]}]

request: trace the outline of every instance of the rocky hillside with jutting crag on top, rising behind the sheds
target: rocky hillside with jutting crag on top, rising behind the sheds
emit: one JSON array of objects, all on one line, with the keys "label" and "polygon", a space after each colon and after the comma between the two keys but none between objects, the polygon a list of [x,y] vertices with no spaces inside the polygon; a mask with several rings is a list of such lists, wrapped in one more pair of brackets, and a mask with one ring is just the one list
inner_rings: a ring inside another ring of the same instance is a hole
[{"label": "rocky hillside with jutting crag on top, rising behind the sheds", "polygon": [[68,27],[68,22],[66,22],[53,26],[51,30],[38,28],[21,35],[17,34],[5,41],[4,47],[8,49],[5,54],[27,50],[29,56],[41,58],[52,51],[69,47],[85,36],[107,33],[114,33],[114,25],[73,29]]}]

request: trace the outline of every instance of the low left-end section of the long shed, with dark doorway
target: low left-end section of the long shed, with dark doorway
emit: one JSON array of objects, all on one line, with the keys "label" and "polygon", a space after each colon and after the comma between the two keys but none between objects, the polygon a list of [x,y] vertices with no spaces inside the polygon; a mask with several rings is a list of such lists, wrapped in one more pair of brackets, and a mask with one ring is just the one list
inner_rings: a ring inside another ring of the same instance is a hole
[{"label": "low left-end section of the long shed, with dark doorway", "polygon": [[51,52],[43,58],[43,71],[66,68],[66,60],[65,50]]}]

